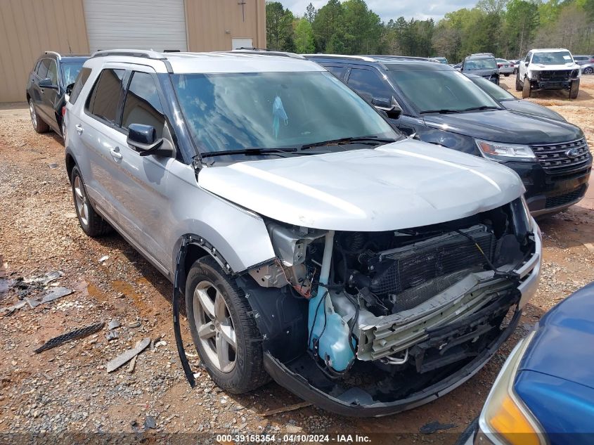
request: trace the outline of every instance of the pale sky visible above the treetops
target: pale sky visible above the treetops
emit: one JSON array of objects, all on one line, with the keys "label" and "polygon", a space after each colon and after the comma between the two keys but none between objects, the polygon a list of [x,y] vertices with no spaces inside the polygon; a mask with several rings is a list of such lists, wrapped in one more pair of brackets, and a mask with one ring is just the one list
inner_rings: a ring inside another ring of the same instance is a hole
[{"label": "pale sky visible above the treetops", "polygon": [[[305,8],[311,1],[317,8],[321,8],[328,0],[278,0],[289,8],[292,13],[302,16]],[[401,15],[407,20],[416,18],[426,20],[432,18],[439,20],[445,13],[456,11],[460,8],[472,8],[477,0],[454,0],[454,1],[432,1],[432,0],[366,0],[367,6],[387,22],[389,19],[399,18]]]}]

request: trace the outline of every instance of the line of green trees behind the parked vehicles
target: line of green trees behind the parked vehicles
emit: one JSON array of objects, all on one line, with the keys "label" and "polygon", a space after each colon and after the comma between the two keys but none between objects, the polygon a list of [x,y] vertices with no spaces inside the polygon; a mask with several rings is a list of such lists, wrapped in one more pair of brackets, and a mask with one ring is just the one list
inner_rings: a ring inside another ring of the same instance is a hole
[{"label": "line of green trees behind the parked vehicles", "polygon": [[477,52],[522,58],[544,47],[589,55],[594,0],[479,0],[438,22],[384,22],[365,0],[328,0],[319,9],[310,3],[297,17],[280,1],[267,1],[266,36],[268,48],[277,51],[444,56],[451,63]]}]

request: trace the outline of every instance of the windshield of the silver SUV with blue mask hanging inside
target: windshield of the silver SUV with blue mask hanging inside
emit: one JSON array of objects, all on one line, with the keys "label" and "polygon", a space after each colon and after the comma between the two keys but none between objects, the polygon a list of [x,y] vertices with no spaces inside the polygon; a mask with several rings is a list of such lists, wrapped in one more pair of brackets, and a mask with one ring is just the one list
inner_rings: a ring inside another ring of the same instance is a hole
[{"label": "windshield of the silver SUV with blue mask hanging inside", "polygon": [[202,153],[398,137],[329,72],[189,74],[172,75],[172,80]]}]

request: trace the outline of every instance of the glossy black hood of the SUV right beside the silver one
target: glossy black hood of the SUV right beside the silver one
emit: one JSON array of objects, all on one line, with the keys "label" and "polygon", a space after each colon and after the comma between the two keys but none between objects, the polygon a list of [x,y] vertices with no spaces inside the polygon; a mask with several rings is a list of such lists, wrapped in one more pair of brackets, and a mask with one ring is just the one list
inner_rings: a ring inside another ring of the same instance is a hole
[{"label": "glossy black hood of the SUV right beside the silver one", "polygon": [[542,144],[583,138],[581,129],[568,122],[553,122],[508,110],[425,115],[428,127],[493,142]]}]

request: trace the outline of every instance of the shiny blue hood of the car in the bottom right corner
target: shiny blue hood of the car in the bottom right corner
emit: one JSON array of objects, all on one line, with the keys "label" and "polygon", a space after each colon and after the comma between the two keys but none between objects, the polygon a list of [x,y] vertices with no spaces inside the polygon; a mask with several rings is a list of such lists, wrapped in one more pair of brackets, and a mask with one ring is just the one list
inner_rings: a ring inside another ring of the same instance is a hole
[{"label": "shiny blue hood of the car in the bottom right corner", "polygon": [[519,370],[553,375],[594,389],[594,283],[550,309]]}]

